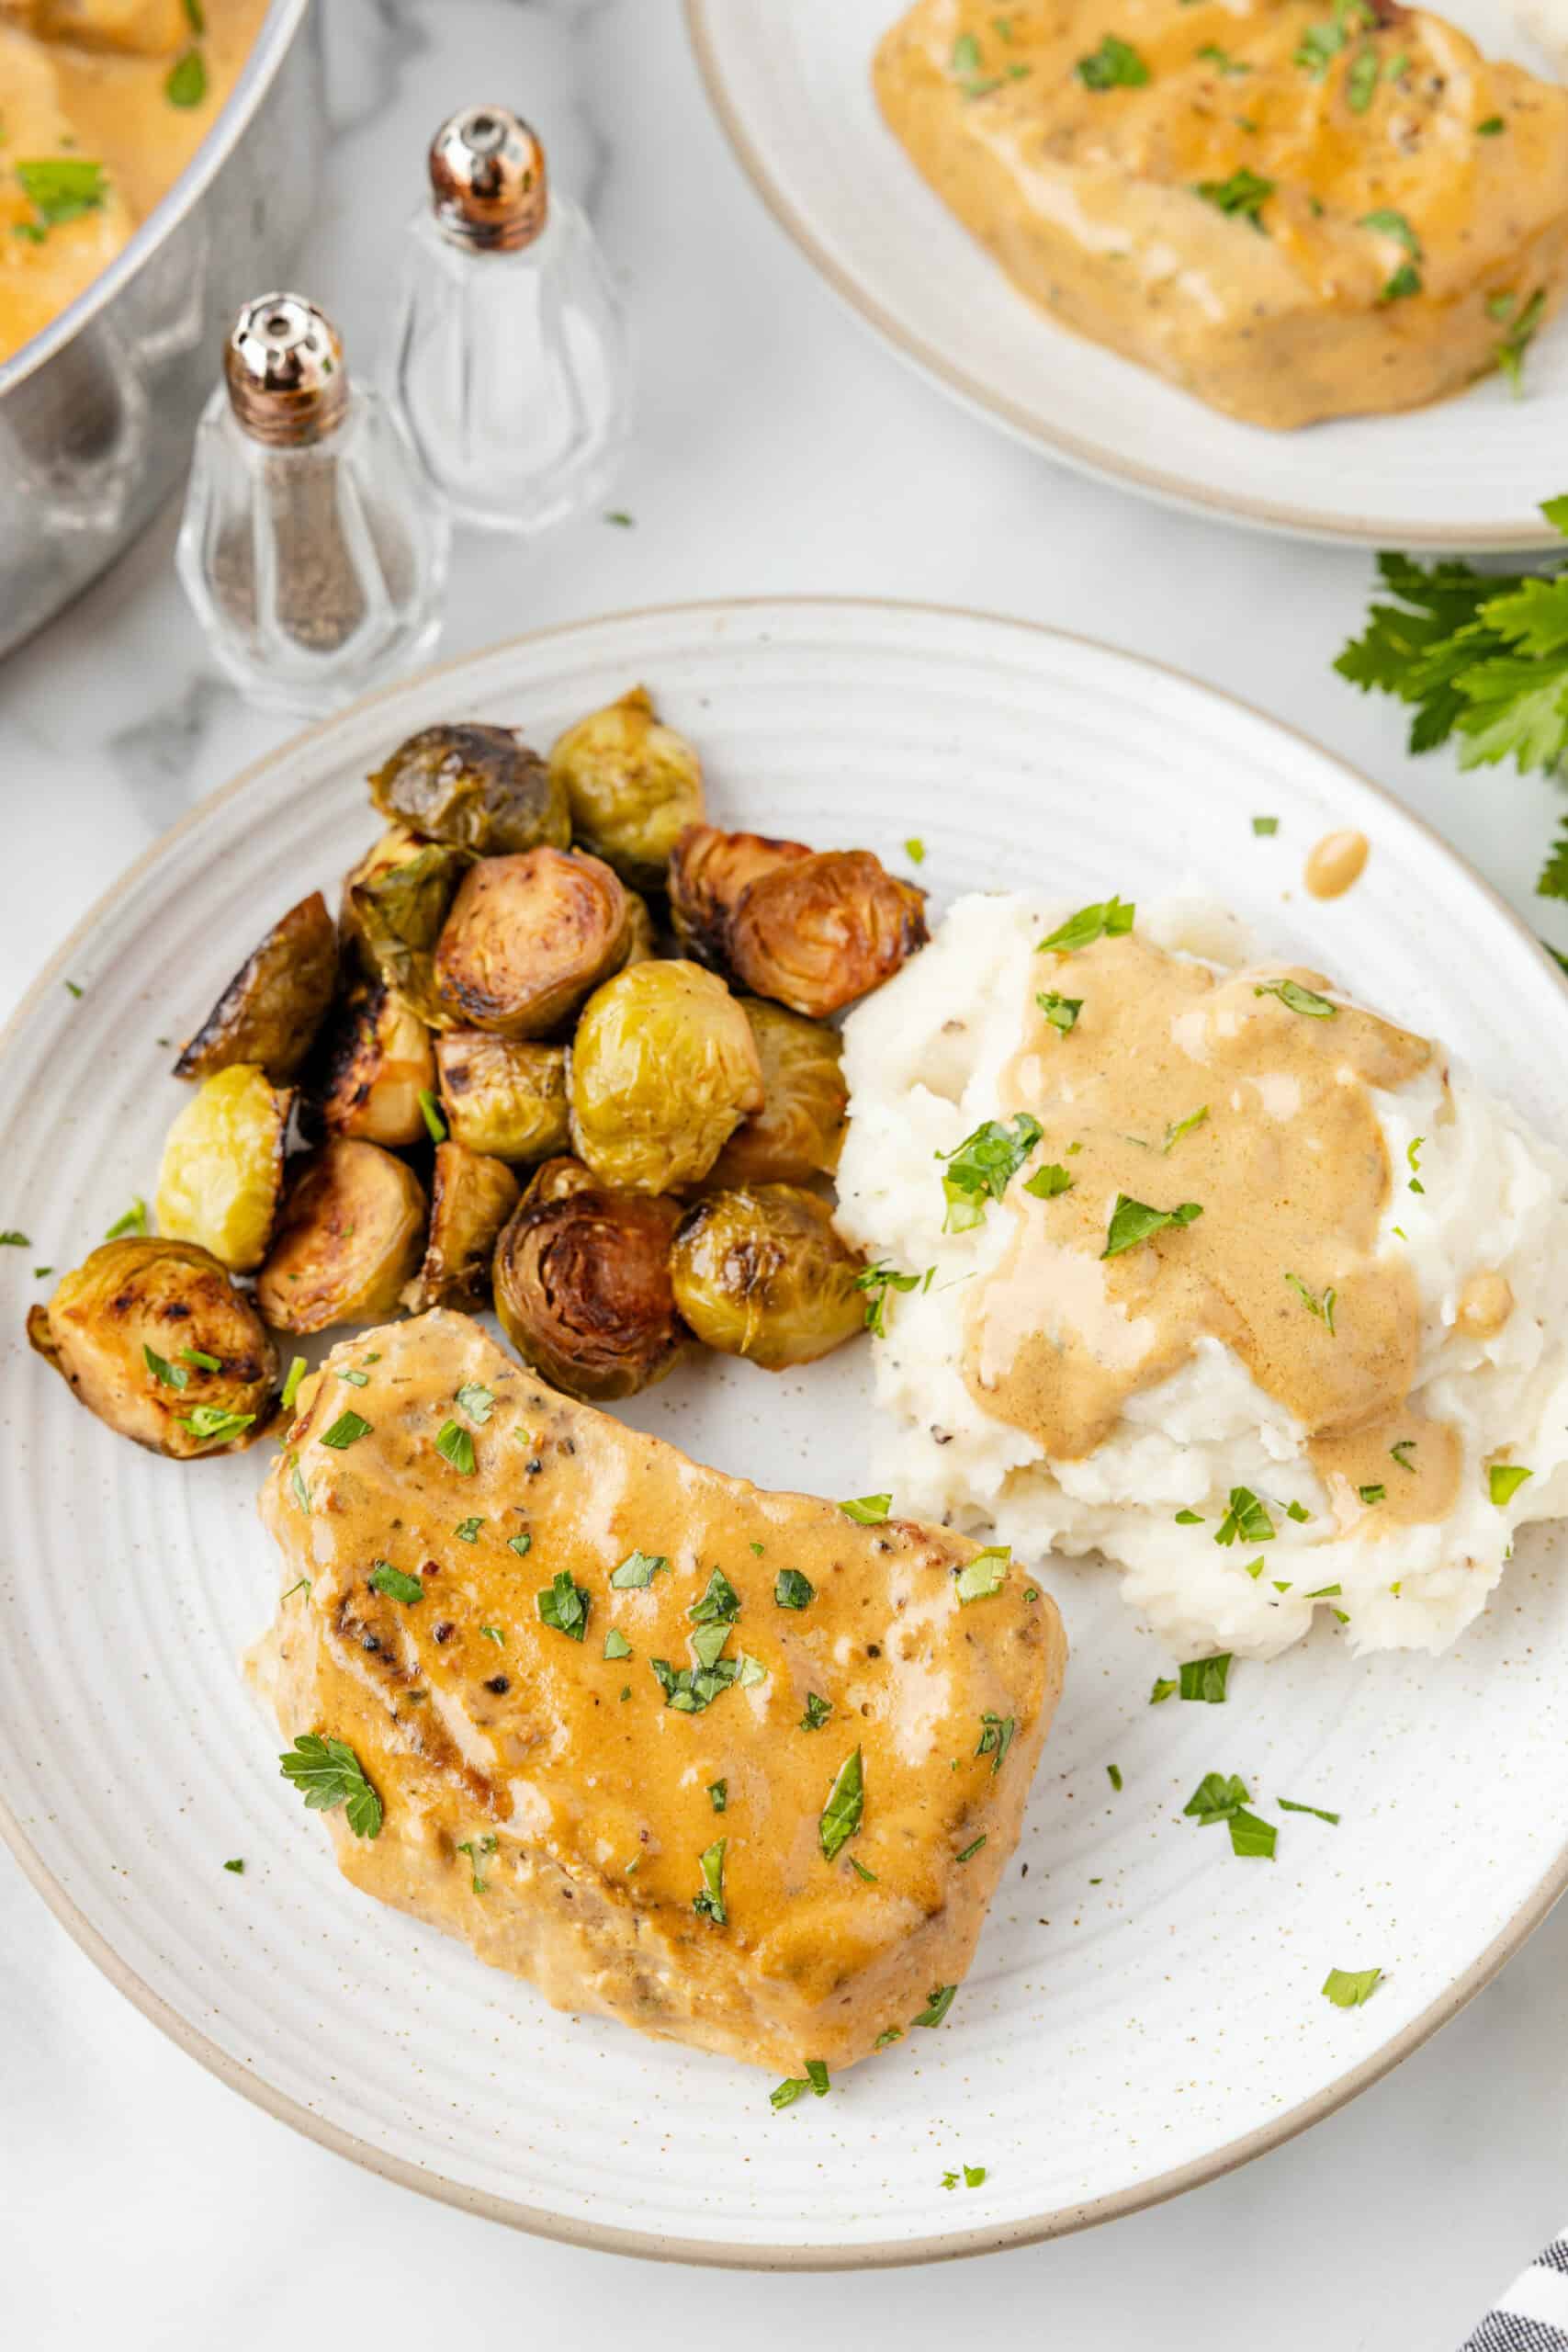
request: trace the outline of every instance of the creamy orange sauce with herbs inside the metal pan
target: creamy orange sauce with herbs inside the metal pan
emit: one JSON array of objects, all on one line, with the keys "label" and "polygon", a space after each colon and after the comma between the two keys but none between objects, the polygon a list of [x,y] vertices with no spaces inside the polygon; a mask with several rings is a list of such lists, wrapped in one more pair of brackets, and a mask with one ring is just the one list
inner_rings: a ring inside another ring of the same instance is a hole
[{"label": "creamy orange sauce with herbs inside the metal pan", "polygon": [[[174,186],[252,52],[268,0],[205,0],[197,38],[183,0],[0,0],[0,360],[75,301]],[[197,49],[195,106],[167,80]],[[103,165],[103,198],[45,226],[19,162]]]}]

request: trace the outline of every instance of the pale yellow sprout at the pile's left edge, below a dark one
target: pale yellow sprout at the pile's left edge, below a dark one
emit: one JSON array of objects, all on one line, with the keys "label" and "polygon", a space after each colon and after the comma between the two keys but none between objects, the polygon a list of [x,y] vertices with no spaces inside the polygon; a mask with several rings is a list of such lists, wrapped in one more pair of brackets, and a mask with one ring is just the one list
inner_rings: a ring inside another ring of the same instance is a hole
[{"label": "pale yellow sprout at the pile's left edge, below a dark one", "polygon": [[261,1265],[282,1192],[287,1087],[237,1061],[174,1120],[158,1169],[158,1230],[197,1242],[235,1275]]}]

